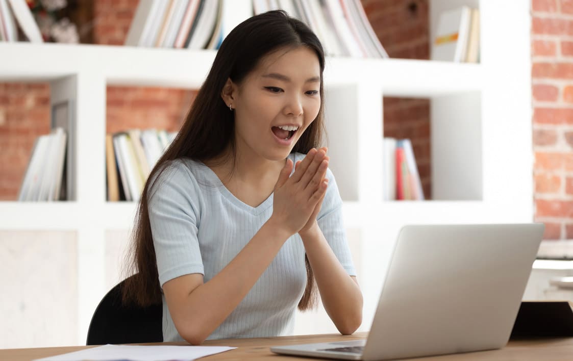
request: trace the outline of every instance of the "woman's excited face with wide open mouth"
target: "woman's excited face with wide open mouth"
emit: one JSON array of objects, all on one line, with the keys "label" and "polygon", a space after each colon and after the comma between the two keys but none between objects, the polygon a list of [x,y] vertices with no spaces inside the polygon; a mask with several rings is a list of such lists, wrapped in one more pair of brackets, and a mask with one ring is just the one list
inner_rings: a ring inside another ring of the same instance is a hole
[{"label": "woman's excited face with wide open mouth", "polygon": [[281,49],[233,84],[237,151],[285,159],[320,109],[320,65],[313,50]]}]

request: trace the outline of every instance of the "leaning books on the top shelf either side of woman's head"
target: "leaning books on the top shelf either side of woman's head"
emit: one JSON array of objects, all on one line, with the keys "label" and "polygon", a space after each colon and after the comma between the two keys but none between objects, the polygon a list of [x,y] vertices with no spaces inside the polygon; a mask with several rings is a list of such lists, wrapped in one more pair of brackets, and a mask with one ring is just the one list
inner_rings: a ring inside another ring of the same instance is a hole
[{"label": "leaning books on the top shelf either side of woman's head", "polygon": [[125,45],[218,49],[238,23],[253,14],[285,10],[305,22],[330,56],[387,58],[360,0],[141,0]]}]

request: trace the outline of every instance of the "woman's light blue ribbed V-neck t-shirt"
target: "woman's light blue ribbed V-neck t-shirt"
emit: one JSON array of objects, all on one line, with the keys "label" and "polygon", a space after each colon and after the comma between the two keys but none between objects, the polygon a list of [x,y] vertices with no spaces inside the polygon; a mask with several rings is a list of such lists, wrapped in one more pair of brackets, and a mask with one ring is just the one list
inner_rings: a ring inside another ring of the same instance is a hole
[{"label": "woman's light blue ribbed V-neck t-shirt", "polygon": [[[304,154],[291,154],[294,163]],[[342,199],[332,172],[317,222],[348,274],[355,276]],[[149,201],[159,282],[190,273],[208,282],[220,272],[273,213],[273,194],[257,207],[234,197],[205,164],[178,159],[160,175]],[[253,288],[209,339],[260,338],[292,334],[296,307],[307,282],[304,246],[290,237]],[[163,340],[183,340],[163,297]]]}]

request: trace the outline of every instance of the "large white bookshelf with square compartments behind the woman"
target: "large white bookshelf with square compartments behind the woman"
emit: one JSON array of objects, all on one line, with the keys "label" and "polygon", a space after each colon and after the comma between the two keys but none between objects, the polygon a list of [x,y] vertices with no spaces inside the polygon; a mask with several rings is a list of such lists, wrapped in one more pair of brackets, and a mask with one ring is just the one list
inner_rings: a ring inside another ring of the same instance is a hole
[{"label": "large white bookshelf with square compartments behind the woman", "polygon": [[[481,64],[327,59],[329,155],[359,263],[363,330],[370,327],[402,225],[533,218],[529,2],[430,3],[430,23],[444,6],[479,5]],[[198,88],[214,56],[208,50],[0,42],[0,81],[49,81],[53,98],[72,95],[77,100],[76,198],[0,202],[0,232],[39,231],[38,237],[42,231],[76,233],[78,344],[85,342],[92,312],[108,291],[106,235],[127,232],[136,209],[135,203],[105,201],[106,86]],[[434,201],[382,201],[383,96],[431,99]],[[325,317],[301,316],[296,332],[334,332]]]}]

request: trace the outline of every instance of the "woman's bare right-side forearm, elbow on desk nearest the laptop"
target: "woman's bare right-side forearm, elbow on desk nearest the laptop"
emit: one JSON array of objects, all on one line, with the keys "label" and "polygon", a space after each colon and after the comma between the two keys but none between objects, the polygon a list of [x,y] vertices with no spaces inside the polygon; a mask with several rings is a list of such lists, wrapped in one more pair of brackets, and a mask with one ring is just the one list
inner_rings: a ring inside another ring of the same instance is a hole
[{"label": "woman's bare right-side forearm, elbow on desk nearest the laptop", "polygon": [[362,323],[362,292],[356,277],[348,276],[342,268],[316,222],[299,235],[303,238],[324,309],[338,331],[350,335]]}]

